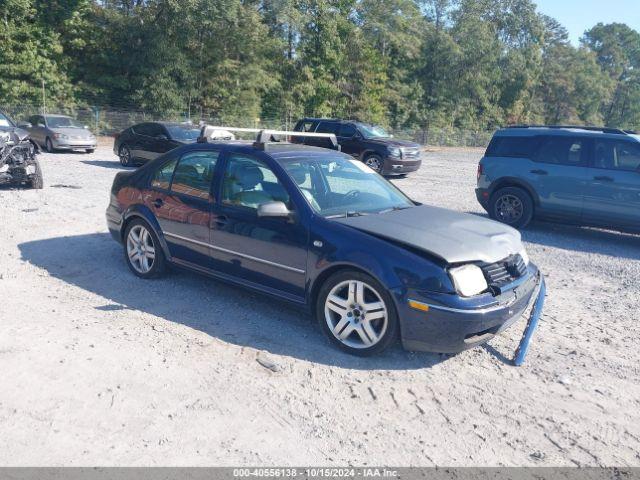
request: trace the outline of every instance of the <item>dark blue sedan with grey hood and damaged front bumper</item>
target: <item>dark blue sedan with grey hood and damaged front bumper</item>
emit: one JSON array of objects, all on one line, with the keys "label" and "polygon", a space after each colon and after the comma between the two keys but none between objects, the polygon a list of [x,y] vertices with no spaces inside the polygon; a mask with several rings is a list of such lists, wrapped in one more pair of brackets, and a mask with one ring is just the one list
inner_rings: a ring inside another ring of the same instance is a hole
[{"label": "dark blue sedan with grey hood and damaged front bumper", "polygon": [[398,337],[411,350],[474,347],[544,292],[516,230],[416,204],[329,149],[177,148],[118,173],[106,216],[137,276],[173,264],[305,306],[356,355]]}]

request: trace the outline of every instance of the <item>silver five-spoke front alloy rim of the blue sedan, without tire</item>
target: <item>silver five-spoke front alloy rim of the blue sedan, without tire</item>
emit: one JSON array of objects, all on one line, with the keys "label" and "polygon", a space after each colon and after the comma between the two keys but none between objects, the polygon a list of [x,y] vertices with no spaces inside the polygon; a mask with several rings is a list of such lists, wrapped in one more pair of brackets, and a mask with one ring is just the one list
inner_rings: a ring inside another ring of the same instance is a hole
[{"label": "silver five-spoke front alloy rim of the blue sedan, without tire", "polygon": [[333,336],[355,349],[376,345],[389,324],[382,297],[360,280],[347,280],[333,287],[325,300],[324,313]]}]

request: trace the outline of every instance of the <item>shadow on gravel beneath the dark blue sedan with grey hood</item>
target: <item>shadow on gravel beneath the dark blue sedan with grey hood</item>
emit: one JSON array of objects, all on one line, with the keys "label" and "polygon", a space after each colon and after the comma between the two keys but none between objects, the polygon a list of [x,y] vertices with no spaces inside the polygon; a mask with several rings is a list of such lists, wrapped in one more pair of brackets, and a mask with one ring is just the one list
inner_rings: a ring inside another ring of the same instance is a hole
[{"label": "shadow on gravel beneath the dark blue sedan with grey hood", "polygon": [[195,273],[173,270],[158,280],[134,276],[122,247],[106,233],[19,245],[22,258],[105,299],[100,311],[138,310],[211,337],[277,355],[357,370],[430,368],[449,356],[399,345],[371,358],[347,355],[323,336],[304,310]]}]

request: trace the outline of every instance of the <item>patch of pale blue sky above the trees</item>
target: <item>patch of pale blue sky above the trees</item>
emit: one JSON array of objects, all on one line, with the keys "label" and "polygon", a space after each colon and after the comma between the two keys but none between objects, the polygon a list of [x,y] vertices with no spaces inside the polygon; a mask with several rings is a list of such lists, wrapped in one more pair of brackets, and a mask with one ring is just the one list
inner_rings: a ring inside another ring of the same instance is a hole
[{"label": "patch of pale blue sky above the trees", "polygon": [[538,11],[558,20],[578,45],[585,30],[599,22],[626,23],[640,31],[640,0],[534,0]]}]

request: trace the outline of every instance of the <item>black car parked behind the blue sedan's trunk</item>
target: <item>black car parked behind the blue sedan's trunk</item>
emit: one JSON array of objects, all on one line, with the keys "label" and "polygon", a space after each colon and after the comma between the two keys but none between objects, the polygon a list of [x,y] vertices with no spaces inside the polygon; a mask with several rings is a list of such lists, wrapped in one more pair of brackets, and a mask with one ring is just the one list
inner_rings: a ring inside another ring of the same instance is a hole
[{"label": "black car parked behind the blue sedan's trunk", "polygon": [[148,122],[129,127],[113,142],[122,165],[148,162],[174,148],[194,143],[200,128],[190,123]]}]

